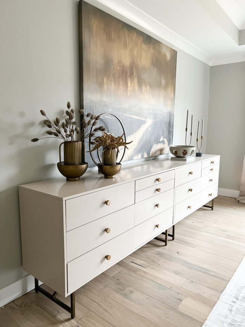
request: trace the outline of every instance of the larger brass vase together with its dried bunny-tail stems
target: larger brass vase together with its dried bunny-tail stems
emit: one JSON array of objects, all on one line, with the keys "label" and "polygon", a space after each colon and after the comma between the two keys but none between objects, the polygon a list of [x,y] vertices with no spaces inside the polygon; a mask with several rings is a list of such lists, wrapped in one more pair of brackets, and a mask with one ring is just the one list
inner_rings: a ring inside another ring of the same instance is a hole
[{"label": "larger brass vase together with its dried bunny-tail stems", "polygon": [[[56,117],[52,122],[44,110],[40,110],[41,115],[45,116],[44,125],[49,128],[46,134],[49,136],[44,138],[60,138],[63,142],[59,146],[59,163],[57,163],[60,173],[67,178],[68,181],[79,180],[87,170],[88,163],[85,163],[85,139],[94,136],[96,132],[104,132],[106,128],[103,126],[95,127],[100,118],[100,115],[91,114],[90,112],[84,116],[81,121],[81,128],[77,127],[78,117],[84,115],[84,110],[80,109],[76,118],[74,118],[74,109],[71,108],[71,103],[67,102],[67,109],[64,112],[66,117],[64,121],[60,121]],[[39,138],[34,138],[31,141],[37,142]],[[61,145],[64,149],[64,161],[61,162]]]}]

